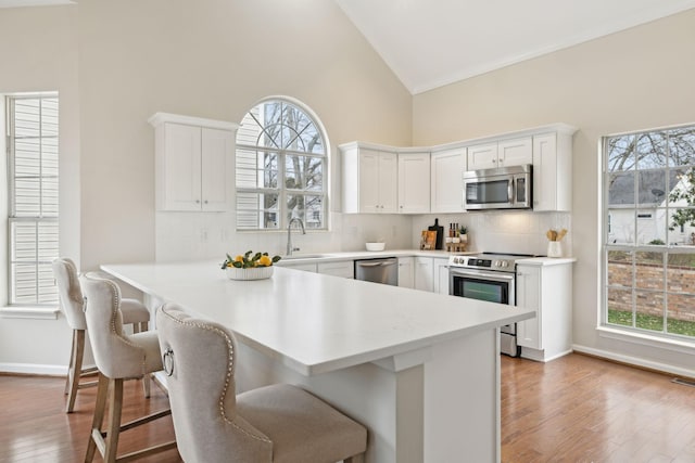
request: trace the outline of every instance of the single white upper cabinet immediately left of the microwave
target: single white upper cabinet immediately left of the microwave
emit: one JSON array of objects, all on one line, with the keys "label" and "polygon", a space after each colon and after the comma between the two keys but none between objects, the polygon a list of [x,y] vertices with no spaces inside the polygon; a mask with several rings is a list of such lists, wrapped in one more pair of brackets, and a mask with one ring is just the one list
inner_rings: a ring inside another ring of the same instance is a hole
[{"label": "single white upper cabinet immediately left of the microwave", "polygon": [[430,157],[430,209],[435,213],[463,213],[463,175],[466,149],[432,153]]}]

